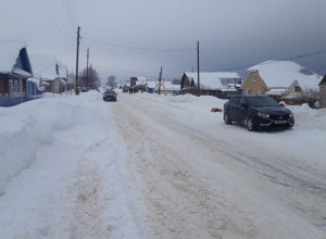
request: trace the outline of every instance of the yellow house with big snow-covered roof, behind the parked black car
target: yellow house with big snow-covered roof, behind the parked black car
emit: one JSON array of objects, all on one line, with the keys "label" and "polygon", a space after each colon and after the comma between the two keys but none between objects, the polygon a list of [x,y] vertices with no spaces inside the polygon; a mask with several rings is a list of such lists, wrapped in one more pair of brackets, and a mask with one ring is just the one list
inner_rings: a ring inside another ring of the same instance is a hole
[{"label": "yellow house with big snow-covered roof, behind the parked black car", "polygon": [[243,95],[268,95],[287,104],[300,104],[318,90],[318,75],[290,61],[266,61],[247,70]]}]

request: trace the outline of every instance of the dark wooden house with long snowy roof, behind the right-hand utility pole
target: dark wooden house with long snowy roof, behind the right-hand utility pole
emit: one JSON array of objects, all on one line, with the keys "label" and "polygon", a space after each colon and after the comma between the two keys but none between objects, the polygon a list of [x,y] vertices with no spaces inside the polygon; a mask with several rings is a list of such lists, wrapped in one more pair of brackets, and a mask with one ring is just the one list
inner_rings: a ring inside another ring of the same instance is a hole
[{"label": "dark wooden house with long snowy roof, behind the right-hand utility pole", "polygon": [[[234,72],[200,72],[201,95],[214,96],[227,99],[240,93],[241,77]],[[198,73],[185,72],[181,77],[181,91],[196,90],[198,88]],[[197,95],[197,93],[195,93]]]}]

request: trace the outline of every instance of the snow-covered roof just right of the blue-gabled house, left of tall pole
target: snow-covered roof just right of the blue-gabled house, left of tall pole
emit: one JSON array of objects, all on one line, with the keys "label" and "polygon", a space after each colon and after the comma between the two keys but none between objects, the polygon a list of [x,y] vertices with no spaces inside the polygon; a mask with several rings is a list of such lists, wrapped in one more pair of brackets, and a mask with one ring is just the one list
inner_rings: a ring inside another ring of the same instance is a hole
[{"label": "snow-covered roof just right of the blue-gabled house, left of tall pole", "polygon": [[[34,77],[43,79],[66,78],[67,67],[55,55],[29,55]],[[57,64],[59,75],[57,74]]]}]

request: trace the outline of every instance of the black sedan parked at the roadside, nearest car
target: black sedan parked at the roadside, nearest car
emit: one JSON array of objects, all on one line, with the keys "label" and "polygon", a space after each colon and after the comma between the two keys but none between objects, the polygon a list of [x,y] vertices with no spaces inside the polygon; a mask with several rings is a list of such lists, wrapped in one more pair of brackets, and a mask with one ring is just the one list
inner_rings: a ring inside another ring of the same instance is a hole
[{"label": "black sedan parked at the roadside, nearest car", "polygon": [[236,96],[224,104],[224,122],[237,122],[248,130],[291,128],[294,117],[290,110],[268,96]]}]

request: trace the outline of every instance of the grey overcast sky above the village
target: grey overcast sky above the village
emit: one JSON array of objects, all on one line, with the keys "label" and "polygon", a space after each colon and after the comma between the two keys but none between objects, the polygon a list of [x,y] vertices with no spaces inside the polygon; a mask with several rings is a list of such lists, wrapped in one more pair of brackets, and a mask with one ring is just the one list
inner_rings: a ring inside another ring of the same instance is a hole
[{"label": "grey overcast sky above the village", "polygon": [[[244,70],[267,60],[326,73],[325,0],[1,0],[2,39],[29,54],[54,54],[76,71],[89,63],[104,80],[180,78],[197,71]],[[324,52],[306,58],[310,53]],[[242,68],[241,68],[242,67]]]}]

